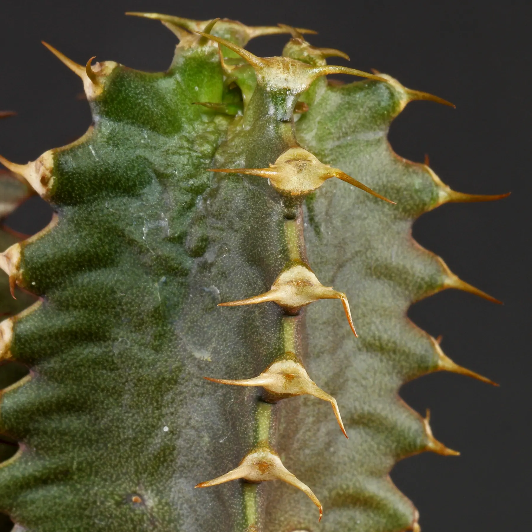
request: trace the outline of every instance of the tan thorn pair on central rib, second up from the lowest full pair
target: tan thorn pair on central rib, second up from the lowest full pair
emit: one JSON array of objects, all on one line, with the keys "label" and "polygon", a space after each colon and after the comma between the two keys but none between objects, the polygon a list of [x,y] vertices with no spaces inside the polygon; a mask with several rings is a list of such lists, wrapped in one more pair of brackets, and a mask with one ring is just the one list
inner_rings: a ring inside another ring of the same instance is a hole
[{"label": "tan thorn pair on central rib, second up from the lowest full pair", "polygon": [[348,437],[336,399],[324,392],[313,380],[311,380],[309,374],[303,367],[303,364],[297,360],[297,357],[293,353],[286,353],[286,355],[280,360],[270,364],[258,377],[252,379],[228,380],[213,379],[211,377],[204,377],[204,379],[210,380],[213,383],[230,384],[234,386],[262,386],[271,394],[282,397],[294,397],[298,395],[312,395],[318,397],[331,404],[332,411],[335,414],[342,433],[346,438]]}]

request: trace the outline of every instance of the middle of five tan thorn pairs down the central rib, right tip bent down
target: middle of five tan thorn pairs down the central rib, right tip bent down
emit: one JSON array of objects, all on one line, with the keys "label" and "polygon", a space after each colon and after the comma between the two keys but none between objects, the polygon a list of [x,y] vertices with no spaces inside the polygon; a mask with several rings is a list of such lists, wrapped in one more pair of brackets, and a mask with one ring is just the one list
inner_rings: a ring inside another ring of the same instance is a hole
[{"label": "middle of five tan thorn pairs down the central rib, right tip bent down", "polygon": [[219,303],[218,306],[255,305],[273,301],[290,312],[297,312],[301,307],[321,299],[341,300],[349,326],[353,334],[358,336],[353,325],[346,295],[342,292],[337,292],[331,286],[323,286],[310,268],[303,264],[294,264],[282,271],[273,282],[271,290],[264,294],[245,300]]}]

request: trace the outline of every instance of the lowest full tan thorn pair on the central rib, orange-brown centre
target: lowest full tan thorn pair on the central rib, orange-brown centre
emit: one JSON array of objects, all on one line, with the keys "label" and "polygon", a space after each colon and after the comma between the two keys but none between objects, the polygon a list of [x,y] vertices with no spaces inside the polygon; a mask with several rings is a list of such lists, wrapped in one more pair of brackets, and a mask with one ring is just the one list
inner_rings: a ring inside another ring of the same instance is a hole
[{"label": "lowest full tan thorn pair on the central rib, orange-brown centre", "polygon": [[222,475],[221,477],[208,480],[197,484],[196,488],[206,488],[210,486],[217,486],[231,480],[244,479],[249,482],[263,482],[267,480],[282,480],[298,489],[301,489],[311,501],[318,506],[320,512],[320,521],[323,514],[323,507],[321,506],[318,497],[314,495],[312,490],[298,480],[293,473],[282,465],[279,455],[265,442],[259,444],[250,453],[246,454],[244,460],[240,462],[236,469],[233,469]]}]

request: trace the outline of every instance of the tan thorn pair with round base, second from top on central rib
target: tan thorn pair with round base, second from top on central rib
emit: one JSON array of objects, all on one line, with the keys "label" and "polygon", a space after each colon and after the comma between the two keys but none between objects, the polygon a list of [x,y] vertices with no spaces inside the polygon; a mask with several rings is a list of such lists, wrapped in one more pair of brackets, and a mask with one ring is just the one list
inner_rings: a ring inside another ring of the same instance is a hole
[{"label": "tan thorn pair with round base, second from top on central rib", "polygon": [[291,196],[309,194],[321,187],[327,179],[336,177],[380,200],[395,205],[395,202],[377,194],[342,170],[323,164],[312,153],[301,147],[288,148],[286,152],[277,157],[275,163],[270,164],[270,168],[213,168],[209,172],[243,173],[267,178],[277,192]]}]

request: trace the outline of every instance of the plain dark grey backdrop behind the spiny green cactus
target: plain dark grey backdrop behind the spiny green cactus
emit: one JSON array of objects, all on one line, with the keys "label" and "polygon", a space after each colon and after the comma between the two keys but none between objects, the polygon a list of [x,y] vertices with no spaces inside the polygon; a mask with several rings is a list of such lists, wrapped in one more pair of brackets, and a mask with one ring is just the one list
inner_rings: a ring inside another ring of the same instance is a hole
[{"label": "plain dark grey backdrop behind the spiny green cactus", "polygon": [[[436,437],[462,455],[414,456],[398,463],[392,478],[419,509],[425,532],[528,529],[530,3],[4,0],[0,110],[18,116],[0,123],[0,153],[25,163],[76,139],[90,123],[79,78],[41,39],[81,64],[96,55],[142,70],[168,68],[176,38],[159,22],[126,17],[125,11],[312,28],[319,31],[309,36],[312,44],[351,56],[351,63],[337,64],[376,68],[456,104],[456,110],[410,104],[389,138],[412,161],[428,154],[431,167],[455,190],[512,192],[493,203],[445,205],[413,229],[421,245],[504,306],[446,290],[414,305],[410,317],[431,335],[443,335],[442,347],[454,361],[501,387],[445,373],[404,386],[405,401],[420,413],[430,408]],[[248,48],[279,55],[286,39],[262,37]],[[50,215],[33,198],[8,223],[31,234]]]}]

